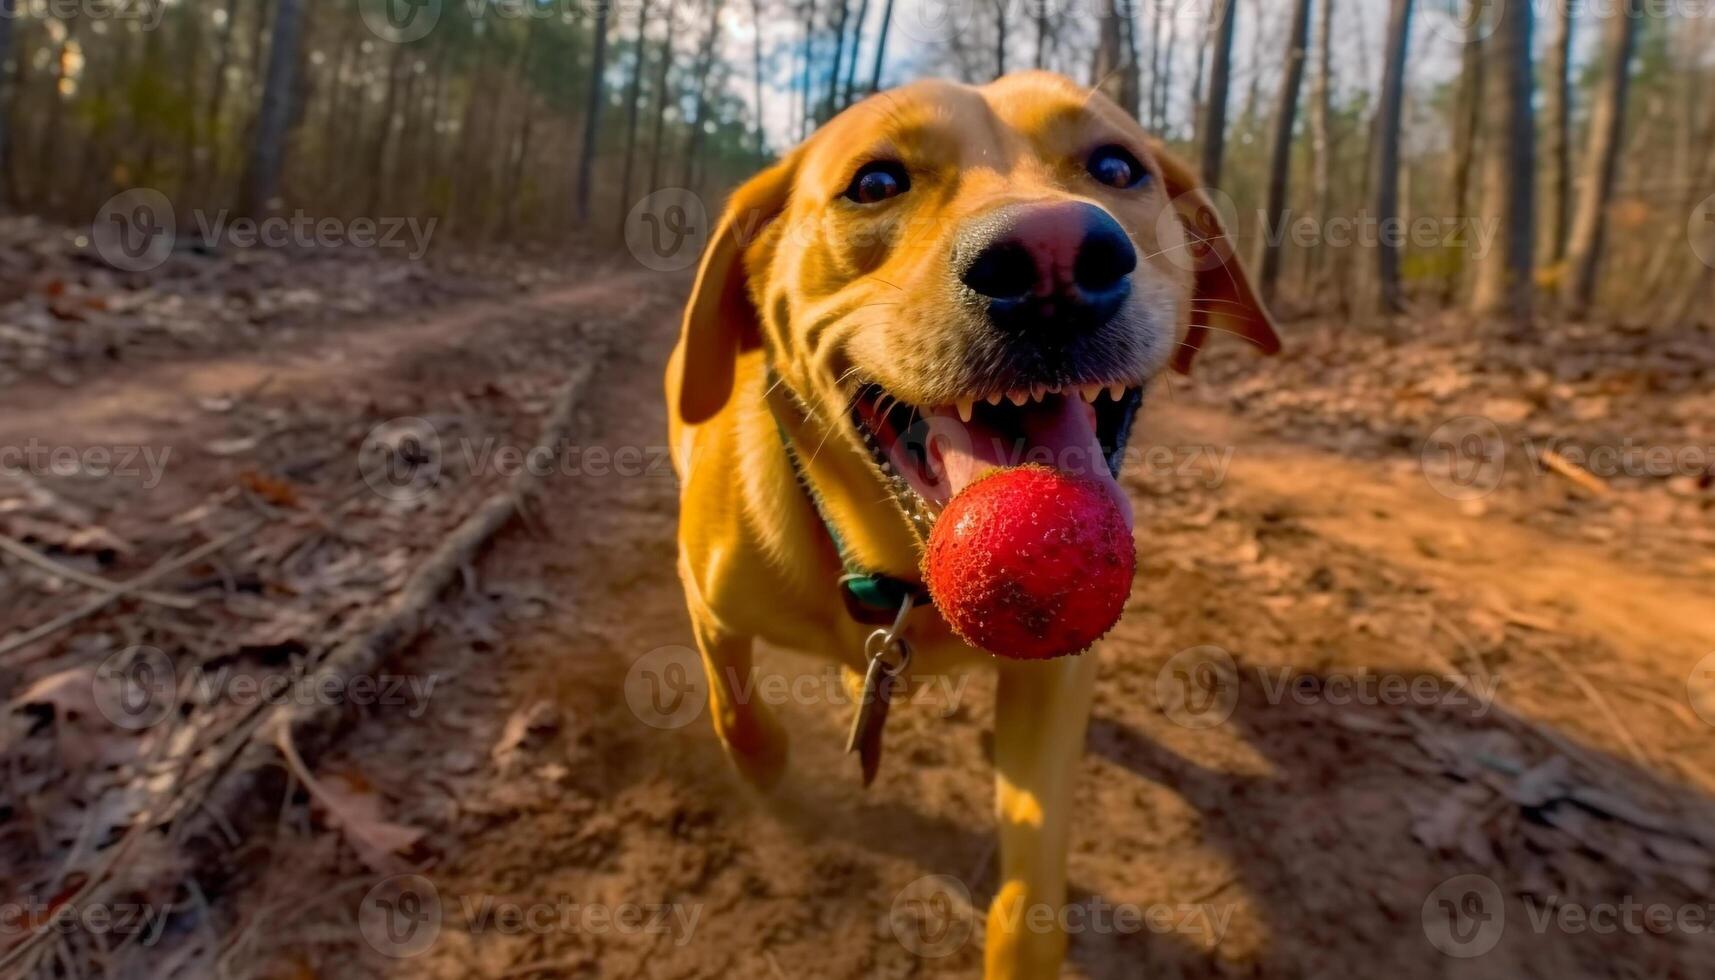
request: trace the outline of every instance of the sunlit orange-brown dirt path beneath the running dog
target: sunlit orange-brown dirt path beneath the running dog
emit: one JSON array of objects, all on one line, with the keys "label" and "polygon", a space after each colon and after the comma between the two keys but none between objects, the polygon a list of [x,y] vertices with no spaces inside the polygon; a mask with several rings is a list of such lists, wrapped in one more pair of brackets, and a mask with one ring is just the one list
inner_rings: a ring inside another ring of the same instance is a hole
[{"label": "sunlit orange-brown dirt path beneath the running dog", "polygon": [[[662,314],[621,345],[581,448],[659,458],[672,333]],[[1688,678],[1715,592],[1463,517],[1406,465],[1173,402],[1151,419],[1173,455],[1130,475],[1142,563],[1101,650],[1070,975],[1700,975],[1706,932],[1554,903],[1701,908],[1715,717]],[[833,678],[767,654],[811,681],[780,704],[792,771],[755,798],[695,702],[660,714],[689,645],[674,511],[664,465],[556,477],[400,662],[444,680],[429,709],[377,712],[328,762],[429,832],[424,877],[285,824],[228,949],[319,977],[974,975],[990,680],[914,692],[864,793]],[[439,916],[408,942],[376,930],[400,889]]]}]

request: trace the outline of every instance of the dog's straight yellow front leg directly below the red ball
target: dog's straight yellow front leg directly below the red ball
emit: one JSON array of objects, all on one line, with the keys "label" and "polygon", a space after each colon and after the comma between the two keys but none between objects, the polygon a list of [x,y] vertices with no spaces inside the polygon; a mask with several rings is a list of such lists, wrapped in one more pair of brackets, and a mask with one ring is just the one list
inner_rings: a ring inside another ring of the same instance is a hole
[{"label": "dog's straight yellow front leg directly below the red ball", "polygon": [[1096,656],[1002,664],[995,700],[1000,891],[988,910],[988,980],[1051,980],[1067,935],[1072,784],[1084,753]]}]

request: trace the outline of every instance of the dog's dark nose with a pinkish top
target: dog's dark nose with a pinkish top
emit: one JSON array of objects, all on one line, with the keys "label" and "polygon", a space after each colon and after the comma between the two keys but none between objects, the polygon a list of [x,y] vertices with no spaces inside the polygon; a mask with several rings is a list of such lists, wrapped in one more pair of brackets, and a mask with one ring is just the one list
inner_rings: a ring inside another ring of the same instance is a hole
[{"label": "dog's dark nose with a pinkish top", "polygon": [[1137,249],[1094,204],[1014,204],[981,218],[960,240],[959,280],[988,297],[990,318],[1019,330],[1096,328],[1132,292]]}]

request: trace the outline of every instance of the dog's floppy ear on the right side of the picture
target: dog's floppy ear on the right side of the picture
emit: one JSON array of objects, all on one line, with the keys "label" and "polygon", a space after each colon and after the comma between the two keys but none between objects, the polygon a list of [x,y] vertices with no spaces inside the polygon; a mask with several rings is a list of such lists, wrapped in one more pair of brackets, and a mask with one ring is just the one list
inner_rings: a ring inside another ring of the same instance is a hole
[{"label": "dog's floppy ear on the right side of the picture", "polygon": [[1250,276],[1238,261],[1219,211],[1202,192],[1202,184],[1185,161],[1159,142],[1151,146],[1151,151],[1161,165],[1173,211],[1185,228],[1185,261],[1192,263],[1197,273],[1192,288],[1190,333],[1173,352],[1173,369],[1180,374],[1190,372],[1190,362],[1211,330],[1237,333],[1261,347],[1264,354],[1276,354],[1281,338],[1274,330],[1274,318],[1250,287]]}]

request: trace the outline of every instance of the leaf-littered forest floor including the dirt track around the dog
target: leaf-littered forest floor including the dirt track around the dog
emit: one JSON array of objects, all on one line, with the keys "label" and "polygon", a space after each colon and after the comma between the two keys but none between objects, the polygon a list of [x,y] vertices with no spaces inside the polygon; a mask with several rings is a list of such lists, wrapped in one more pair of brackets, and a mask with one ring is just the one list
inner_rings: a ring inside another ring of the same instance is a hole
[{"label": "leaf-littered forest floor including the dirt track around the dog", "polygon": [[[0,323],[62,309],[0,336],[9,367],[36,359],[0,446],[75,451],[0,472],[0,532],[110,580],[242,534],[0,654],[0,887],[26,911],[75,894],[69,868],[137,808],[115,772],[139,733],[103,723],[98,664],[142,645],[266,675],[350,633],[602,359],[527,520],[388,659],[398,697],[314,760],[317,786],[218,874],[144,841],[127,894],[153,929],[65,930],[36,946],[45,975],[978,973],[991,678],[914,690],[868,791],[837,685],[789,688],[768,796],[700,714],[640,704],[691,644],[659,396],[679,280],[413,271],[432,295],[334,312],[352,273],[288,268],[321,299],[256,326],[268,290],[218,293],[216,269],[175,302],[256,330],[204,343],[135,331],[165,287],[33,269]],[[43,354],[65,330],[81,354]],[[1094,654],[1067,973],[1706,977],[1715,487],[1708,458],[1617,450],[1715,451],[1712,400],[1705,330],[1439,316],[1288,324],[1279,359],[1219,345],[1159,386],[1127,470],[1140,570]],[[369,493],[364,446],[398,419],[439,438],[439,481]],[[89,596],[0,554],[0,644]],[[761,669],[825,676],[785,650]]]}]

